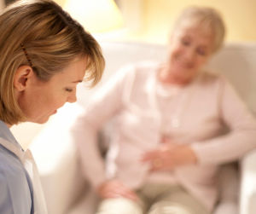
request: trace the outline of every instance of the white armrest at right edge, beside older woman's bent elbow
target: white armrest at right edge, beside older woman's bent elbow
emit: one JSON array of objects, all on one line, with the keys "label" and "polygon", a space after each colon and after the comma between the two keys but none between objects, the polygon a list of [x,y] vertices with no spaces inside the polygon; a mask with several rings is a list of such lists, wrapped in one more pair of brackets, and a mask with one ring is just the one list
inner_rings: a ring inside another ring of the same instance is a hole
[{"label": "white armrest at right edge, beside older woman's bent elbow", "polygon": [[241,160],[240,213],[256,213],[256,149]]}]

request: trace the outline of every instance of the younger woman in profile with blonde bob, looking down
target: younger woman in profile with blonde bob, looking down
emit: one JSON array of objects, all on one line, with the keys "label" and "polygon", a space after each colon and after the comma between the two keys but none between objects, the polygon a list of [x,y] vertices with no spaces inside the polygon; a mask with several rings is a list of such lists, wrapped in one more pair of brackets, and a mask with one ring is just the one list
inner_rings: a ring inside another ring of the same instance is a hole
[{"label": "younger woman in profile with blonde bob, looking down", "polygon": [[32,153],[9,128],[43,124],[65,102],[76,101],[76,85],[84,73],[97,84],[104,59],[90,33],[51,0],[9,5],[0,30],[0,213],[46,214]]}]

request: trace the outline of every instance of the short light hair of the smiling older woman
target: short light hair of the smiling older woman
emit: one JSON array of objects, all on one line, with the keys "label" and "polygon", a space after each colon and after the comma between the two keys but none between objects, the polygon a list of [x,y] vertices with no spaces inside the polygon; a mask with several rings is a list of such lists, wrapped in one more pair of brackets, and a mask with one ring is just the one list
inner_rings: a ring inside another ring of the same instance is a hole
[{"label": "short light hair of the smiling older woman", "polygon": [[212,53],[222,47],[225,35],[225,26],[221,14],[216,9],[208,7],[190,6],[183,10],[174,24],[173,32],[179,30],[181,26],[195,27],[210,32],[214,36]]}]

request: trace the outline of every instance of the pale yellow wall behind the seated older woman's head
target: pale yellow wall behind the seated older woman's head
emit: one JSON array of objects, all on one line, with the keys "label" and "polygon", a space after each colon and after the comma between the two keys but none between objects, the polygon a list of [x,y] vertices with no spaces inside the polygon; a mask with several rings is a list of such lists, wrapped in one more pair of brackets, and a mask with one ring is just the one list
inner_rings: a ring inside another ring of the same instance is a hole
[{"label": "pale yellow wall behind the seated older woman's head", "polygon": [[[182,9],[189,5],[205,5],[218,9],[223,14],[228,28],[227,41],[256,41],[256,1],[255,0],[117,0],[135,9],[140,2],[142,24],[137,31],[126,31],[113,36],[118,40],[166,43],[173,21]],[[61,6],[65,0],[55,0]],[[132,18],[132,9],[125,17],[126,23]],[[134,21],[134,20],[133,20]],[[109,37],[108,37],[109,38]]]}]

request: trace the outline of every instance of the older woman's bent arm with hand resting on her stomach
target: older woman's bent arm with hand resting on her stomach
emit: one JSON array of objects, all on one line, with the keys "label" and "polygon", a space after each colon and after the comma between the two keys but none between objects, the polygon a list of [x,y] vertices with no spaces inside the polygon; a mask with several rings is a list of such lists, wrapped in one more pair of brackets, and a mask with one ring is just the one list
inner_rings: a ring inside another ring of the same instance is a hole
[{"label": "older woman's bent arm with hand resting on her stomach", "polygon": [[223,82],[220,119],[230,128],[224,136],[180,145],[166,139],[158,149],[145,153],[143,162],[152,162],[153,171],[172,170],[179,165],[219,165],[240,159],[256,147],[256,123],[230,84]]}]

